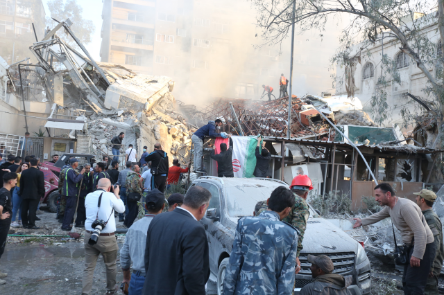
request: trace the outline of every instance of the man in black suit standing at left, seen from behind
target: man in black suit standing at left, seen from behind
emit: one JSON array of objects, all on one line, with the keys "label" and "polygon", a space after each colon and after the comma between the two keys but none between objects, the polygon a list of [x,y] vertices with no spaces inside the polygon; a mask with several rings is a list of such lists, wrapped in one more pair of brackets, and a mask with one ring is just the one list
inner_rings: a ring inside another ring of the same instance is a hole
[{"label": "man in black suit standing at left, seen from behind", "polygon": [[44,175],[37,169],[39,158],[29,160],[31,168],[22,172],[20,192],[22,197],[22,224],[24,229],[40,229],[35,226],[35,212],[40,199],[44,197]]}]

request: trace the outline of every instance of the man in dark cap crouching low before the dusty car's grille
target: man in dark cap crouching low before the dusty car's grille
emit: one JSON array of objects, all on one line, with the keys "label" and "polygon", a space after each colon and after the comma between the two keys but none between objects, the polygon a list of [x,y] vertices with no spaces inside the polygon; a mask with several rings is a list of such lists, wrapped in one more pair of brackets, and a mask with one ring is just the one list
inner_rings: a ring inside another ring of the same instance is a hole
[{"label": "man in dark cap crouching low before the dusty car's grille", "polygon": [[300,290],[300,295],[351,295],[347,287],[352,285],[352,276],[332,274],[334,266],[330,257],[309,255],[307,260],[311,263],[310,270],[314,282],[305,285]]}]

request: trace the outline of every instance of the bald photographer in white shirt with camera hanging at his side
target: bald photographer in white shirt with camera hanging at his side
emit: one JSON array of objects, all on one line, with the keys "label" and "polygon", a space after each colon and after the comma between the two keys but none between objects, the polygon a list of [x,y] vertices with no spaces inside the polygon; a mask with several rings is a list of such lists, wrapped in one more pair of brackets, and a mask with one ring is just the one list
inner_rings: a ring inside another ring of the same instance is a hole
[{"label": "bald photographer in white shirt with camera hanging at his side", "polygon": [[[89,193],[85,198],[86,222],[85,222],[85,270],[83,271],[82,294],[89,294],[92,289],[92,278],[96,268],[97,258],[102,254],[106,267],[107,294],[114,294],[117,274],[117,241],[115,236],[116,221],[114,211],[123,213],[125,205],[119,197],[119,186],[115,186],[114,194],[110,193],[110,179],[100,179],[97,190]],[[99,205],[100,199],[100,205]],[[92,225],[94,224],[94,228]],[[95,224],[101,224],[95,226]],[[97,230],[101,229],[100,234]],[[93,232],[96,233],[93,235]],[[93,239],[96,239],[94,242]]]}]

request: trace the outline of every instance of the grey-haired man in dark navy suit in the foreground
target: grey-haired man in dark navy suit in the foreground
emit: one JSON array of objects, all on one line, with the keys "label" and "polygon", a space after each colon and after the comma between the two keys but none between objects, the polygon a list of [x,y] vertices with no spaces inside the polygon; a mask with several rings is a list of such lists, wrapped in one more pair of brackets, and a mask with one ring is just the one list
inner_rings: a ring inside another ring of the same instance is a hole
[{"label": "grey-haired man in dark navy suit in the foreground", "polygon": [[205,228],[199,220],[210,199],[207,189],[193,186],[182,207],[153,218],[146,235],[142,294],[205,295],[210,263]]}]

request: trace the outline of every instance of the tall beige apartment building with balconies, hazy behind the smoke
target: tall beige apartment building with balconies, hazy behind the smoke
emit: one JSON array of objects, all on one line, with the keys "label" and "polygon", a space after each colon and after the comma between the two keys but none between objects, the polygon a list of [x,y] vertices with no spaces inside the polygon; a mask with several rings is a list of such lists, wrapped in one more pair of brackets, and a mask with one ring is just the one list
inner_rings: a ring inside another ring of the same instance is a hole
[{"label": "tall beige apartment building with balconies, hazy behind the smoke", "polygon": [[[176,98],[189,102],[217,96],[257,100],[262,84],[278,97],[280,74],[289,78],[290,41],[257,48],[262,40],[255,17],[245,1],[105,0],[101,61],[171,76]],[[302,45],[304,38],[297,42]],[[302,95],[319,94],[331,88],[330,73],[309,68],[321,56],[328,62],[334,46],[307,51],[304,45],[295,46],[293,82]]]}]

